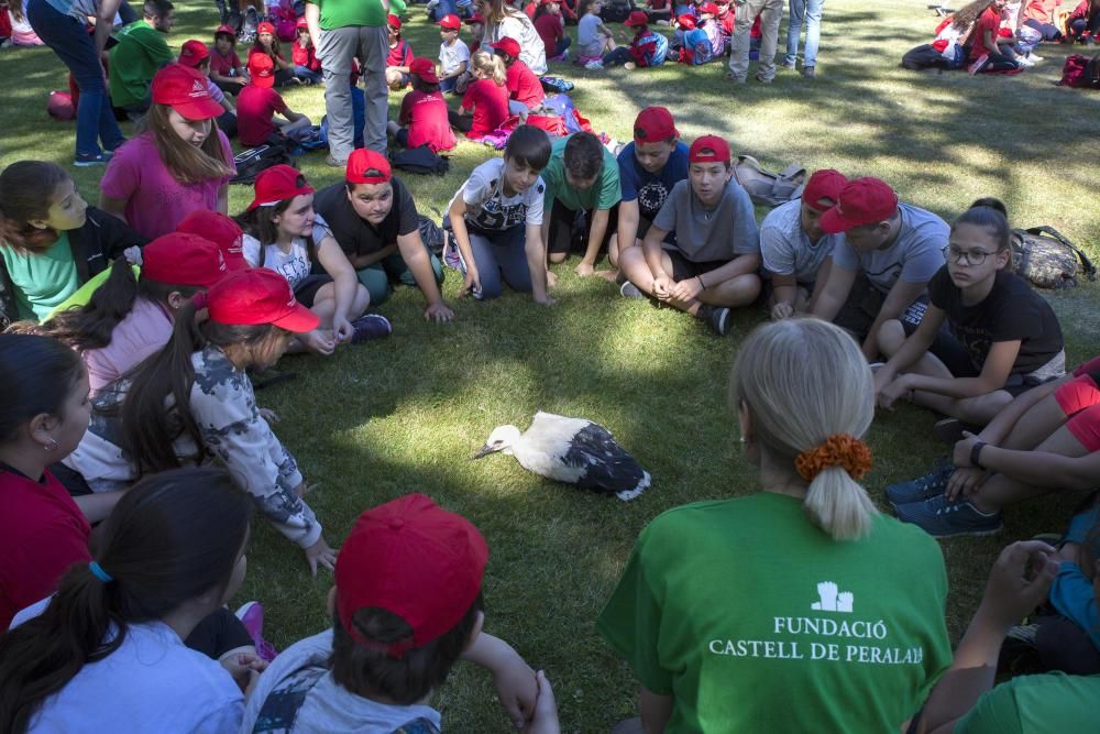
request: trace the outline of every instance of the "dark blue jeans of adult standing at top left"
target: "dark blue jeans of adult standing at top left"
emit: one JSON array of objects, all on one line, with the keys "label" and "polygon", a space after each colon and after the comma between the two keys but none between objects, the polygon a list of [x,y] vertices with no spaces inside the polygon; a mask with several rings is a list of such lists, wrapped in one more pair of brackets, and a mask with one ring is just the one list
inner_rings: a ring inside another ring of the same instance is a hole
[{"label": "dark blue jeans of adult standing at top left", "polygon": [[76,157],[94,158],[100,155],[100,141],[109,151],[125,142],[107,96],[103,65],[96,55],[96,46],[84,23],[73,15],[57,12],[46,0],[31,0],[26,7],[26,19],[43,43],[73,73],[80,89],[76,111]]}]

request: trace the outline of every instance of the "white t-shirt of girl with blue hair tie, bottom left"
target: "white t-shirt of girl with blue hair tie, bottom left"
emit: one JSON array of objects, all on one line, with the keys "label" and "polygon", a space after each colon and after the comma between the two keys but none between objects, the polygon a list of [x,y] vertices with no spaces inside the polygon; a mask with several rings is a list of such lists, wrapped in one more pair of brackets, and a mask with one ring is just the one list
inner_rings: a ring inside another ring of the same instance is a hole
[{"label": "white t-shirt of girl with blue hair tie, bottom left", "polygon": [[[41,613],[47,601],[15,622]],[[130,625],[119,649],[80,668],[46,699],[29,732],[224,734],[240,728],[243,712],[244,697],[228,670],[186,647],[168,625],[148,622]]]}]

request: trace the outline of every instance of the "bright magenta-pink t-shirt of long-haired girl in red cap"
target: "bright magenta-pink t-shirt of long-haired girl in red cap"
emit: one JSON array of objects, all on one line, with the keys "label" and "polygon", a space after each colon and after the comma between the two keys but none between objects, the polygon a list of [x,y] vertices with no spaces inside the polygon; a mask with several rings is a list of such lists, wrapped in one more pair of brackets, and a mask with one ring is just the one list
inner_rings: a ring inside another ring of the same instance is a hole
[{"label": "bright magenta-pink t-shirt of long-haired girl in red cap", "polygon": [[[218,136],[232,167],[229,139],[220,130]],[[114,152],[99,188],[109,198],[124,199],[131,229],[152,240],[174,232],[176,224],[193,211],[217,209],[218,191],[228,183],[229,176],[180,184],[161,161],[152,133],[145,132]]]}]

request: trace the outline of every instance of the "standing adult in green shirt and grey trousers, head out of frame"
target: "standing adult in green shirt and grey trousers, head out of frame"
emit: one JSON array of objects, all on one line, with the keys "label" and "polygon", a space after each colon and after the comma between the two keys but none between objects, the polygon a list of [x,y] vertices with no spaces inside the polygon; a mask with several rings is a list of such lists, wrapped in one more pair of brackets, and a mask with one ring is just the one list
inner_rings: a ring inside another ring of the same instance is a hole
[{"label": "standing adult in green shirt and grey trousers, head out of frame", "polygon": [[330,166],[343,168],[353,149],[350,79],[354,58],[362,66],[366,96],[363,142],[373,151],[386,152],[388,13],[389,0],[309,0],[306,4],[309,37],[324,76],[324,111],[329,117],[326,163]]}]

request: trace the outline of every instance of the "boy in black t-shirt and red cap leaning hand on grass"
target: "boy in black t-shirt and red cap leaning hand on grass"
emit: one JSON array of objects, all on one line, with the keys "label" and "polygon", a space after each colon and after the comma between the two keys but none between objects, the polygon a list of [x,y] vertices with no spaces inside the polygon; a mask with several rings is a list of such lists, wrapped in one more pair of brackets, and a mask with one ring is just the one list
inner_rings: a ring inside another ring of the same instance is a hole
[{"label": "boy in black t-shirt and red cap leaning hand on grass", "polygon": [[344,183],[317,193],[317,212],[343,249],[375,306],[397,283],[420,288],[424,317],[444,324],[454,313],[439,286],[443,266],[420,239],[420,217],[408,188],[391,176],[386,156],[366,149],[348,158]]}]

